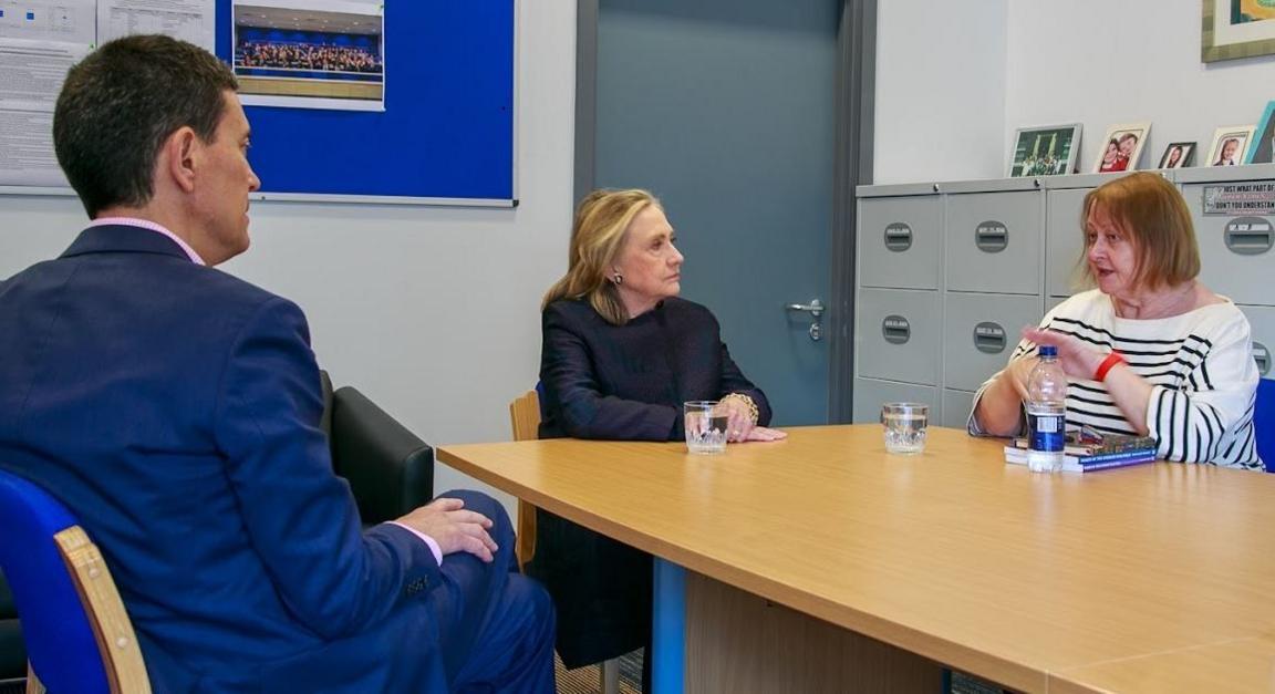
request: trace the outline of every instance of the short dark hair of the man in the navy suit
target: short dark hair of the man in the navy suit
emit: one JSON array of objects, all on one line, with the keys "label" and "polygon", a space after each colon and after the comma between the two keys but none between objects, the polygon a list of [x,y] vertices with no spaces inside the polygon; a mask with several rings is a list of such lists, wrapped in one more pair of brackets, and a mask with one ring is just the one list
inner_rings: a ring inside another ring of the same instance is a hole
[{"label": "short dark hair of the man in the navy suit", "polygon": [[167,36],[129,36],[102,45],[70,69],[54,111],[54,149],[89,217],[150,200],[156,157],[189,125],[212,142],[238,89],[208,51]]}]

